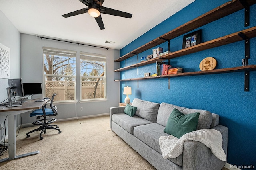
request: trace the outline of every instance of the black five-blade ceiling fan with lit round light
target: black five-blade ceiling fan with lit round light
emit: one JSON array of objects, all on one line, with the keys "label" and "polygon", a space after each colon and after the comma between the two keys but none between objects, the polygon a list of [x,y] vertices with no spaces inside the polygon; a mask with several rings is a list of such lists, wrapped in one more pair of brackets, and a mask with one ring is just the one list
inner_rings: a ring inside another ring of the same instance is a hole
[{"label": "black five-blade ceiling fan with lit round light", "polygon": [[120,16],[125,18],[132,18],[132,14],[130,13],[122,12],[122,11],[118,11],[118,10],[114,10],[114,9],[102,6],[104,0],[79,0],[79,1],[85,4],[86,6],[88,6],[88,8],[83,8],[81,10],[70,12],[62,16],[67,18],[67,17],[76,16],[76,15],[84,14],[88,12],[90,16],[95,18],[101,30],[105,29],[105,27],[100,14],[109,14],[109,15]]}]

